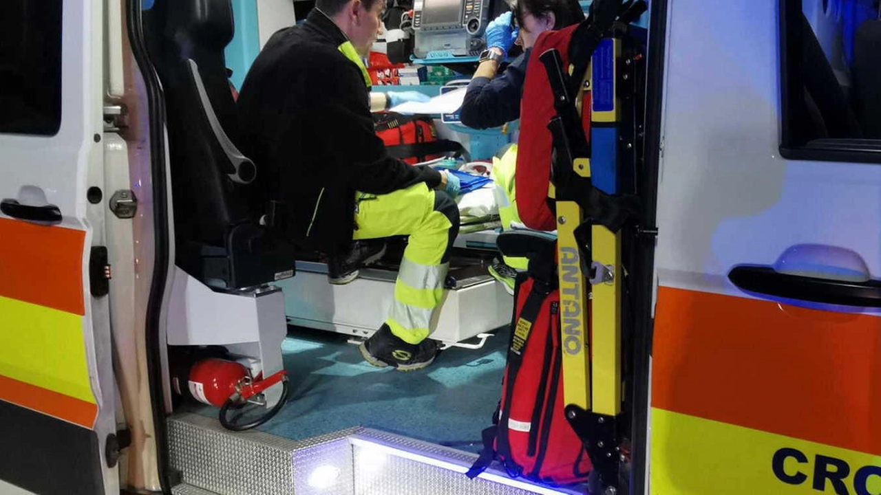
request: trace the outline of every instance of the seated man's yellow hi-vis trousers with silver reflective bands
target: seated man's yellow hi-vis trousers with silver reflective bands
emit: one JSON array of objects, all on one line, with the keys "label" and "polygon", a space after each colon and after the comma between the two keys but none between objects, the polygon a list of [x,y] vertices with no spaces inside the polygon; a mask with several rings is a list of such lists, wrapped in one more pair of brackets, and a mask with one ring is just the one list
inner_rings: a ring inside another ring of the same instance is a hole
[{"label": "seated man's yellow hi-vis trousers with silver reflective bands", "polygon": [[404,342],[419,344],[433,329],[444,296],[459,207],[420,182],[387,195],[357,193],[355,240],[409,235],[386,324]]}]

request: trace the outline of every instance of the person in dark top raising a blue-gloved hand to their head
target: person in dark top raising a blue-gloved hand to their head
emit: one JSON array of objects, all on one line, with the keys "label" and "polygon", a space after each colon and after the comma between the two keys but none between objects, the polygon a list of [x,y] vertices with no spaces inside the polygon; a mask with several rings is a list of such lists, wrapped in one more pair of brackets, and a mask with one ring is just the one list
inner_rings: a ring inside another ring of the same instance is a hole
[{"label": "person in dark top raising a blue-gloved hand to their head", "polygon": [[[462,123],[472,129],[499,127],[520,118],[520,100],[529,54],[538,35],[584,20],[577,0],[517,0],[512,11],[486,26],[487,49],[480,56],[460,110]],[[507,68],[499,67],[514,43],[523,48]]]}]

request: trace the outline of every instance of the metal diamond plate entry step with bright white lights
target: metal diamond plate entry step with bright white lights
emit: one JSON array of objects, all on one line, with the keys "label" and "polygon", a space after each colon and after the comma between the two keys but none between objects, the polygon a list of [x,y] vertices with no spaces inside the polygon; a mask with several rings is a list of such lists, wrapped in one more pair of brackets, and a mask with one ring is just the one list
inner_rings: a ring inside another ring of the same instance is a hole
[{"label": "metal diamond plate entry step with bright white lights", "polygon": [[169,419],[168,432],[172,468],[189,485],[174,491],[179,495],[586,492],[512,480],[492,468],[471,480],[464,472],[476,454],[366,428],[294,441],[263,432],[229,432],[213,418],[180,414]]}]

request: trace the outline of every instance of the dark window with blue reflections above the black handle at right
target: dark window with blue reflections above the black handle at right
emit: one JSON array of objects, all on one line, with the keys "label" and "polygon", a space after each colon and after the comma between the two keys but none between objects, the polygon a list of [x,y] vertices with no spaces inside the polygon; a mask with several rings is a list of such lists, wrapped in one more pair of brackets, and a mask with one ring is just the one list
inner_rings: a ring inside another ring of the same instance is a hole
[{"label": "dark window with blue reflections above the black handle at right", "polygon": [[878,0],[781,0],[781,155],[881,163]]}]

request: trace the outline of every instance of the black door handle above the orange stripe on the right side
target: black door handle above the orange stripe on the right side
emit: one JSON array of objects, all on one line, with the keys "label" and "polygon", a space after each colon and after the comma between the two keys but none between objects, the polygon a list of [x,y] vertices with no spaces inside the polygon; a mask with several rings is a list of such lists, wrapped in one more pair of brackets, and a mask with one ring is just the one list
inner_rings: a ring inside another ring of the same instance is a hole
[{"label": "black door handle above the orange stripe on the right side", "polygon": [[849,282],[781,273],[766,266],[738,266],[728,274],[738,288],[769,296],[853,307],[881,307],[881,281]]}]

